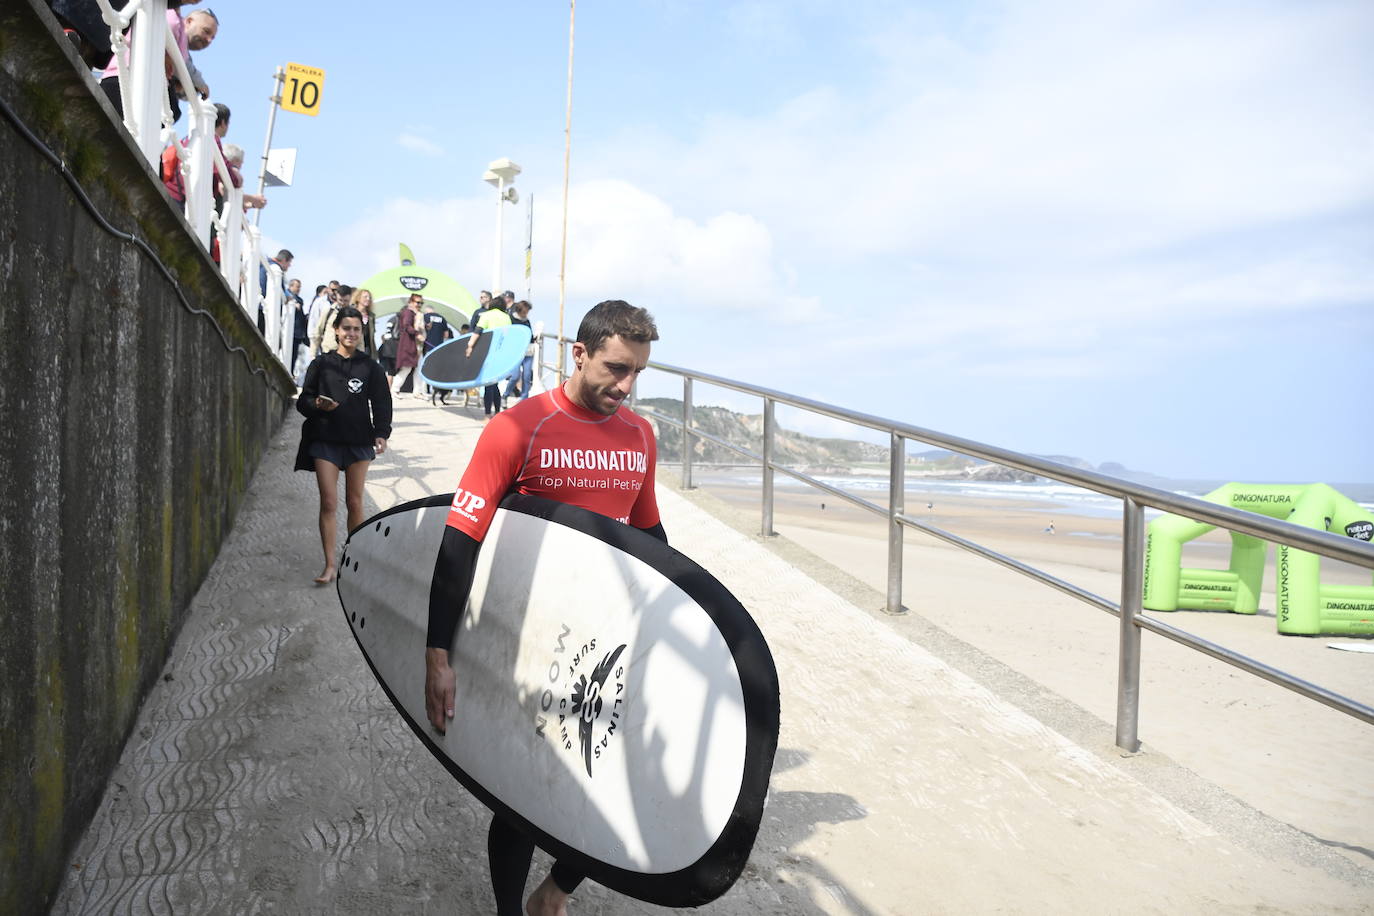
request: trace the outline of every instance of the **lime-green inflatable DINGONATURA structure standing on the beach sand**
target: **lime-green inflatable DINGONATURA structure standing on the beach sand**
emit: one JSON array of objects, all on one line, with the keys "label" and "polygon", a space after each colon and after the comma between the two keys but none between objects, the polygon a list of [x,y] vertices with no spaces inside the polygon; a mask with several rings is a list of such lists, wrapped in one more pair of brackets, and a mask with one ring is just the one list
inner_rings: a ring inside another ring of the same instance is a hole
[{"label": "lime-green inflatable DINGONATURA structure standing on the beach sand", "polygon": [[[1374,522],[1369,512],[1326,483],[1227,483],[1205,497],[1369,541]],[[1145,608],[1150,611],[1219,610],[1254,614],[1268,544],[1231,531],[1231,563],[1226,570],[1183,569],[1183,544],[1215,525],[1182,515],[1150,522],[1145,541]],[[1278,632],[1294,634],[1374,633],[1374,586],[1322,585],[1316,553],[1278,547]]]}]

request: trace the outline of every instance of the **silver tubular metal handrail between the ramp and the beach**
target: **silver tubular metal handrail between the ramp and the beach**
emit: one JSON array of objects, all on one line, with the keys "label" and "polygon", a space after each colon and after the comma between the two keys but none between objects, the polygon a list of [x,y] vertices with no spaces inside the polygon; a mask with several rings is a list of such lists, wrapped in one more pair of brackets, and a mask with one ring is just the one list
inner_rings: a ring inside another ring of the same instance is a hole
[{"label": "silver tubular metal handrail between the ramp and the beach", "polygon": [[[550,339],[562,349],[572,343],[567,338],[550,336]],[[543,343],[541,343],[543,347]],[[545,369],[556,369],[555,364],[547,364],[543,358],[543,349],[540,350],[540,367]],[[558,365],[563,363],[559,361]],[[691,489],[691,446],[692,439],[703,439],[728,449],[730,452],[749,459],[753,463],[760,464],[763,468],[763,526],[761,533],[767,536],[775,534],[772,530],[772,516],[774,516],[774,475],[785,474],[793,479],[801,481],[808,486],[816,488],[824,493],[834,496],[835,499],[851,503],[859,508],[867,509],[870,512],[883,515],[889,522],[888,534],[888,604],[886,610],[889,612],[897,614],[903,612],[901,607],[901,563],[903,563],[903,530],[907,527],[916,529],[932,537],[945,541],[954,547],[969,551],[977,556],[987,560],[998,563],[1006,569],[1028,575],[1044,585],[1055,588],[1065,595],[1076,597],[1087,604],[1096,607],[1098,610],[1113,614],[1118,618],[1118,655],[1117,655],[1117,721],[1116,721],[1116,743],[1128,751],[1136,751],[1140,747],[1139,742],[1139,699],[1140,699],[1140,630],[1150,630],[1158,636],[1173,640],[1182,645],[1187,645],[1198,652],[1209,655],[1217,661],[1226,662],[1234,667],[1245,670],[1256,677],[1261,677],[1267,681],[1278,684],[1286,689],[1290,689],[1301,696],[1316,700],[1325,706],[1336,709],[1341,713],[1352,715],[1363,722],[1374,725],[1374,707],[1366,706],[1358,700],[1348,696],[1342,696],[1323,687],[1305,681],[1300,677],[1282,672],[1279,669],[1271,667],[1252,659],[1239,652],[1234,652],[1223,645],[1217,645],[1209,640],[1201,639],[1176,626],[1164,623],[1158,619],[1145,617],[1142,614],[1142,589],[1143,589],[1143,570],[1145,570],[1145,507],[1153,507],[1157,509],[1173,512],[1176,515],[1184,515],[1197,520],[1208,522],[1217,527],[1230,529],[1234,531],[1241,531],[1243,534],[1250,534],[1265,541],[1275,541],[1278,544],[1286,544],[1293,548],[1300,548],[1327,556],[1331,559],[1345,560],[1348,563],[1355,563],[1356,566],[1363,566],[1367,569],[1374,569],[1374,544],[1366,544],[1356,541],[1353,538],[1340,537],[1327,531],[1318,531],[1314,529],[1303,527],[1300,525],[1293,525],[1292,522],[1270,519],[1263,515],[1256,515],[1253,512],[1246,512],[1242,509],[1234,509],[1226,505],[1217,505],[1216,503],[1208,503],[1205,500],[1180,496],[1178,493],[1169,493],[1168,490],[1161,490],[1153,486],[1145,486],[1142,483],[1132,483],[1129,481],[1123,481],[1114,477],[1107,477],[1106,474],[1099,474],[1096,471],[1087,471],[1083,468],[1069,467],[1068,464],[1061,464],[1058,461],[1050,461],[1047,459],[1035,457],[1030,455],[1024,455],[1021,452],[1013,452],[1010,449],[1002,449],[993,445],[987,445],[984,442],[976,442],[973,439],[966,439],[956,435],[948,435],[945,433],[938,433],[936,430],[927,430],[919,426],[912,426],[910,423],[901,423],[899,420],[890,420],[886,417],[875,416],[872,413],[863,413],[860,411],[851,411],[833,404],[824,404],[822,401],[815,401],[812,398],[800,397],[796,394],[787,394],[785,391],[776,391],[774,389],[767,389],[757,385],[749,385],[746,382],[738,382],[735,379],[721,378],[719,375],[710,375],[706,372],[697,372],[692,369],[686,369],[676,365],[669,365],[666,363],[650,361],[649,368],[658,369],[671,375],[677,375],[683,379],[683,415],[680,417],[668,416],[653,409],[640,409],[642,413],[651,416],[660,423],[666,423],[683,431],[683,474],[682,486],[684,489]],[[562,379],[559,379],[562,380]],[[691,415],[692,415],[692,382],[702,382],[706,385],[714,385],[717,387],[730,389],[741,394],[747,394],[753,397],[760,397],[764,401],[764,437],[763,437],[763,453],[753,452],[746,448],[734,445],[732,442],[725,442],[724,439],[710,435],[708,433],[692,428]],[[808,411],[811,413],[818,413],[820,416],[827,416],[831,419],[842,420],[846,423],[853,423],[856,426],[868,427],[882,433],[888,433],[892,438],[890,446],[890,474],[889,474],[889,492],[888,492],[888,505],[879,505],[870,500],[846,493],[835,486],[818,481],[801,471],[794,471],[789,467],[783,467],[774,460],[774,437],[776,434],[776,423],[774,422],[774,412],[778,404],[785,404],[801,411]],[[1070,582],[1059,580],[1043,570],[1035,569],[1022,563],[1017,559],[998,553],[989,548],[980,544],[969,541],[958,534],[945,531],[929,522],[923,522],[918,518],[907,515],[903,505],[903,499],[905,494],[905,478],[904,478],[904,456],[905,456],[905,439],[915,439],[918,442],[925,442],[927,445],[934,445],[938,448],[949,449],[960,455],[970,455],[973,457],[982,459],[985,461],[992,461],[995,464],[1002,464],[1006,467],[1014,467],[1021,471],[1028,471],[1039,477],[1046,477],[1063,483],[1070,483],[1080,486],[1103,496],[1112,496],[1123,501],[1123,547],[1121,547],[1121,599],[1120,603],[1113,603],[1112,600],[1094,595],[1085,589],[1081,589]]]}]

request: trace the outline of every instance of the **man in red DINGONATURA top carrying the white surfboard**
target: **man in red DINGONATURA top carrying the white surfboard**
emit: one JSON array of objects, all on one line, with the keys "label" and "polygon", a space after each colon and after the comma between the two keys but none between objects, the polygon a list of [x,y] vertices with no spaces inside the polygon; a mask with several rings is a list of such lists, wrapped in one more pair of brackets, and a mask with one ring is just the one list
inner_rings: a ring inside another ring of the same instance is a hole
[{"label": "man in red DINGONATURA top carrying the white surfboard", "polygon": [[[657,339],[658,330],[644,309],[620,299],[598,304],[577,328],[572,376],[497,413],[482,430],[453,494],[430,585],[425,706],[438,732],[453,718],[449,647],[467,606],[478,549],[502,497],[514,492],[570,503],[666,542],[654,496],[653,428],[621,409]],[[534,843],[497,816],[486,847],[497,913],[518,915]],[[580,873],[555,862],[525,912],[563,916],[580,880]]]}]

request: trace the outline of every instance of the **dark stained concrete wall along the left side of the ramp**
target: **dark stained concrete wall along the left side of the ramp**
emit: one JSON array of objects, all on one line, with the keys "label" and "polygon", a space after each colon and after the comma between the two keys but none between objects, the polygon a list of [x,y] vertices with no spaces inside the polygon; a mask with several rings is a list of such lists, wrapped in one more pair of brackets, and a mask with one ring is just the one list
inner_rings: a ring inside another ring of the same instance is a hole
[{"label": "dark stained concrete wall along the left side of the ramp", "polygon": [[3,4],[0,99],[209,314],[0,117],[0,913],[48,906],[291,391],[93,87]]}]

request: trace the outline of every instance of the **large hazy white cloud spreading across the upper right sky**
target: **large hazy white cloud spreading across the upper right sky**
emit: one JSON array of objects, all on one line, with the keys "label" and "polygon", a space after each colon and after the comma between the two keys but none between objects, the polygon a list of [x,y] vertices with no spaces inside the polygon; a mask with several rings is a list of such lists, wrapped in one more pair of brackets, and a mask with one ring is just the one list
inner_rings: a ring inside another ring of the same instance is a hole
[{"label": "large hazy white cloud spreading across the upper right sky", "polygon": [[763,117],[708,114],[686,141],[628,124],[589,158],[756,220],[802,288],[871,272],[885,313],[941,308],[951,330],[1369,301],[1359,246],[1325,222],[1358,218],[1367,249],[1371,41],[1360,3],[922,10],[848,62],[857,82],[822,67]]}]

